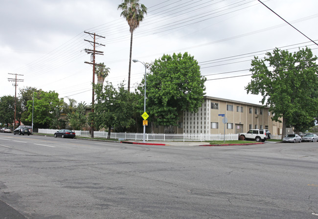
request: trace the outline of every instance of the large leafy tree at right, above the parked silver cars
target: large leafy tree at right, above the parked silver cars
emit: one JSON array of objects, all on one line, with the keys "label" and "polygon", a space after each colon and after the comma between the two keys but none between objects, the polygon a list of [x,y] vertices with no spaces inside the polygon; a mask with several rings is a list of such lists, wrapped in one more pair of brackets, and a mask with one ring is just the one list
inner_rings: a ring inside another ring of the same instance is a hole
[{"label": "large leafy tree at right, above the parked silver cars", "polygon": [[272,119],[283,122],[282,137],[286,127],[296,132],[312,127],[318,115],[317,57],[307,47],[294,54],[276,48],[266,55],[252,60],[252,79],[245,89],[263,96],[260,102],[270,107]]}]

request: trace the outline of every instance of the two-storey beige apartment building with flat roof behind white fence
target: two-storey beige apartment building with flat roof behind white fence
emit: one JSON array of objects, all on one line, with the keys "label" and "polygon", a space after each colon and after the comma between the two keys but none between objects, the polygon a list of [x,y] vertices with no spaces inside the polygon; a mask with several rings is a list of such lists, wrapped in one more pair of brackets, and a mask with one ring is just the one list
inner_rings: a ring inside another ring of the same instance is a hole
[{"label": "two-storey beige apartment building with flat roof behind white fence", "polygon": [[[224,117],[222,116],[224,114]],[[226,118],[226,123],[223,119]],[[250,129],[268,129],[273,135],[281,134],[282,123],[272,121],[272,113],[268,107],[204,96],[204,102],[198,112],[184,111],[175,133],[241,133]],[[151,132],[147,128],[147,131]],[[154,126],[155,133],[164,132],[162,126]]]}]

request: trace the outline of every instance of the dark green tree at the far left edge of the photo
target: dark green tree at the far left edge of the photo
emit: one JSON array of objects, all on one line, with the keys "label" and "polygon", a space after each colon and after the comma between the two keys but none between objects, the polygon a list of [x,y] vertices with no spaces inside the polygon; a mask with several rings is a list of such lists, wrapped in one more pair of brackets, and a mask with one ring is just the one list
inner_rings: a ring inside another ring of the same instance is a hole
[{"label": "dark green tree at the far left edge of the photo", "polygon": [[0,123],[6,127],[14,120],[14,96],[2,96],[0,98]]}]

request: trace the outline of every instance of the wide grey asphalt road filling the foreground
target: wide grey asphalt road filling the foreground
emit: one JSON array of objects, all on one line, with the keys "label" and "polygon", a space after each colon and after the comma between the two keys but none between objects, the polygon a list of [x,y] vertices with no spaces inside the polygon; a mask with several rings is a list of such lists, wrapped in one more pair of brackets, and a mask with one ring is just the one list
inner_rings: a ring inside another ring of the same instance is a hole
[{"label": "wide grey asphalt road filling the foreground", "polygon": [[318,143],[149,146],[0,133],[0,219],[318,219]]}]

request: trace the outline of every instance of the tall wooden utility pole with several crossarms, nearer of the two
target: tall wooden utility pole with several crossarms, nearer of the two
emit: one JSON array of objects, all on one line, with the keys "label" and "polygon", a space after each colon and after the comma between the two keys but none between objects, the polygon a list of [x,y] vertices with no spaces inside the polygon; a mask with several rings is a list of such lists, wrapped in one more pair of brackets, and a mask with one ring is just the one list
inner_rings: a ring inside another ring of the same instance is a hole
[{"label": "tall wooden utility pole with several crossarms, nearer of the two", "polygon": [[[89,43],[93,46],[93,49],[85,49],[85,52],[87,52],[88,54],[91,54],[91,62],[84,62],[84,63],[93,65],[93,85],[92,85],[92,97],[91,97],[91,112],[94,112],[94,99],[95,99],[95,91],[94,91],[94,85],[95,85],[95,66],[99,66],[98,64],[95,64],[95,55],[104,55],[104,54],[103,54],[104,52],[102,52],[102,51],[97,51],[97,50],[96,50],[96,44],[97,44],[97,45],[105,46],[105,45],[103,45],[103,44],[98,44],[98,43],[96,43],[96,37],[99,37],[99,38],[105,38],[105,37],[99,36],[99,35],[97,35],[97,34],[95,34],[95,33],[86,32],[86,31],[84,31],[84,33],[89,34],[89,35],[94,39],[94,41],[84,40],[84,41],[89,42]],[[91,137],[92,137],[92,138],[94,137],[93,121],[91,121]]]}]

